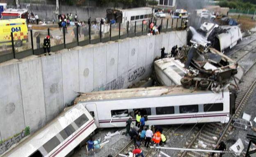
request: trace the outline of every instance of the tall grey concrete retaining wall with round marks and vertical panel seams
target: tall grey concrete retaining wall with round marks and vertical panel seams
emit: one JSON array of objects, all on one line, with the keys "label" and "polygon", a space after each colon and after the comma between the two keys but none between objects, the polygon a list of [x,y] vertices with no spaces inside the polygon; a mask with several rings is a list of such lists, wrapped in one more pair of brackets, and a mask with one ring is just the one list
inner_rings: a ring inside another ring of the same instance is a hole
[{"label": "tall grey concrete retaining wall with round marks and vertical panel seams", "polygon": [[78,92],[127,88],[151,75],[160,48],[186,44],[186,32],[126,38],[0,64],[0,140],[33,132],[72,104]]}]

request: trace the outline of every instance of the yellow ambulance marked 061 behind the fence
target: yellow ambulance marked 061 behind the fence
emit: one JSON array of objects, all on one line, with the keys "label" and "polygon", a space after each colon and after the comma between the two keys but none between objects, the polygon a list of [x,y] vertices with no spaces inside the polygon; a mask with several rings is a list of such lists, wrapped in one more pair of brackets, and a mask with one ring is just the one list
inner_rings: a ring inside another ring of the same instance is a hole
[{"label": "yellow ambulance marked 061 behind the fence", "polygon": [[11,32],[15,46],[28,42],[26,19],[0,20],[0,46],[11,45]]}]

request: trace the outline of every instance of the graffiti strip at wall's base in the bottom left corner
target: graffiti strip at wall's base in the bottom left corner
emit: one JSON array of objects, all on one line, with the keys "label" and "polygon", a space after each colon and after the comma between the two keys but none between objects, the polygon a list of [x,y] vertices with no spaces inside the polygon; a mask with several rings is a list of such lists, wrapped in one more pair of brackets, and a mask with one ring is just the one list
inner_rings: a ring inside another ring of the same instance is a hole
[{"label": "graffiti strip at wall's base in the bottom left corner", "polygon": [[5,140],[4,142],[0,141],[0,155],[2,153],[5,153],[5,151],[11,148],[12,145],[20,142],[21,139],[23,139],[25,136],[29,134],[30,134],[30,127],[27,126],[25,130],[22,130],[21,133],[14,135],[14,137],[11,137],[8,140]]}]

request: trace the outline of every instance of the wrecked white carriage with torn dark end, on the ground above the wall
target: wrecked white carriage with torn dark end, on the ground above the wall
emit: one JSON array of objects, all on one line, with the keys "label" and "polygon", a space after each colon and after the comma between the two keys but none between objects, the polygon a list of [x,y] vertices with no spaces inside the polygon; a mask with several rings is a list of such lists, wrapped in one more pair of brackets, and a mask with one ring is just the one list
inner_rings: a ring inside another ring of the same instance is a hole
[{"label": "wrecked white carriage with torn dark end, on the ground above the wall", "polygon": [[107,9],[107,22],[115,20],[117,23],[150,20],[152,8],[140,7],[132,9]]}]

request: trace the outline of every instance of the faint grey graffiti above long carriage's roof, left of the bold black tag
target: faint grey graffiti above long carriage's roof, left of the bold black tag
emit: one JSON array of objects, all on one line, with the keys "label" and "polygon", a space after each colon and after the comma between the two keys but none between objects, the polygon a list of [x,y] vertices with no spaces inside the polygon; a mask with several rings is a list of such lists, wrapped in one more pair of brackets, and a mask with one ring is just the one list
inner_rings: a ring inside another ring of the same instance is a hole
[{"label": "faint grey graffiti above long carriage's roof, left of the bold black tag", "polygon": [[123,88],[124,78],[123,76],[119,76],[117,79],[112,80],[107,83],[106,86],[102,85],[101,87],[94,89],[94,91],[108,91]]}]

